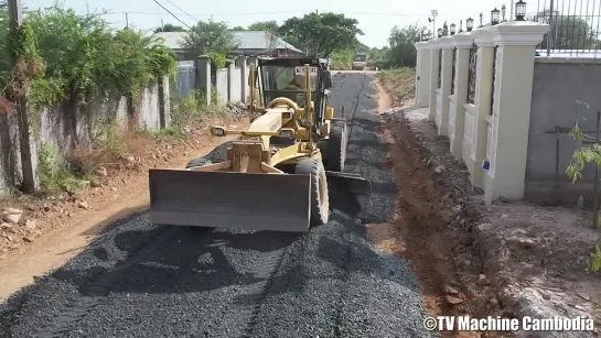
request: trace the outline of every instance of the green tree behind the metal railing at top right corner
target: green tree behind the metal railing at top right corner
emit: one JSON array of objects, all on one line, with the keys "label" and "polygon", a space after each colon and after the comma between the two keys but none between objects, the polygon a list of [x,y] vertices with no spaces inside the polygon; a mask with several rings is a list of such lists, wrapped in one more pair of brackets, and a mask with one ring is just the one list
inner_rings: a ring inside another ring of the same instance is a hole
[{"label": "green tree behind the metal railing at top right corner", "polygon": [[546,10],[538,13],[538,19],[549,25],[549,33],[540,43],[540,48],[547,48],[547,36],[550,34],[551,50],[589,50],[600,46],[597,30],[586,19],[576,15],[565,15],[560,12]]}]

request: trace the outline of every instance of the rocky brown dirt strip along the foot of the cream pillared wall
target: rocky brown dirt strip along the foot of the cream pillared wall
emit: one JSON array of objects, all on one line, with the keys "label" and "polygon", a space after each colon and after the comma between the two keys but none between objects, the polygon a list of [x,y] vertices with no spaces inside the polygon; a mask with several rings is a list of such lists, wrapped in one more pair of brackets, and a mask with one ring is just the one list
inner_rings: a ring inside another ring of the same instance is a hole
[{"label": "rocky brown dirt strip along the foot of the cream pillared wall", "polygon": [[[422,238],[416,246],[431,247],[432,254],[444,255],[449,264],[416,266],[422,270],[418,272],[421,281],[433,279],[436,282],[437,274],[442,274],[444,280],[458,280],[459,294],[464,292],[470,301],[455,299],[457,290],[447,290],[447,303],[468,303],[468,307],[489,314],[599,318],[601,279],[590,271],[590,254],[599,241],[599,231],[590,228],[590,212],[506,199],[485,206],[482,190],[471,186],[464,164],[450,154],[448,139],[438,137],[436,126],[428,121],[428,108],[391,109],[383,116],[391,148],[401,149],[401,154],[411,156],[416,164],[412,168],[399,170],[403,170],[400,175],[415,179],[418,190],[408,186],[412,194],[408,193],[405,200],[403,193],[399,195],[401,204],[412,204],[422,210],[416,216],[422,220],[416,231],[423,236],[409,233],[407,238]],[[394,155],[390,163],[398,167]],[[422,186],[420,175],[430,176],[437,187]],[[431,223],[432,215],[438,216],[436,223]],[[399,228],[401,232],[407,231],[405,227]],[[415,255],[410,243],[406,246],[407,255]],[[418,258],[418,264],[426,261],[427,255]],[[528,337],[599,334],[537,335]]]}]

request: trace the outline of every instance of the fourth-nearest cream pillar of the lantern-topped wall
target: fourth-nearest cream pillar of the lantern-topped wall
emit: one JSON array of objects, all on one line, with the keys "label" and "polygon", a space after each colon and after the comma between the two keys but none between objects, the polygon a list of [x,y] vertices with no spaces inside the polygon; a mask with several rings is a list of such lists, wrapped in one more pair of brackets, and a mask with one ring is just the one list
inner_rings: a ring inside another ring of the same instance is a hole
[{"label": "fourth-nearest cream pillar of the lantern-topped wall", "polygon": [[439,46],[441,53],[440,65],[440,86],[437,92],[437,116],[436,124],[438,127],[438,134],[449,135],[449,96],[451,95],[451,86],[453,83],[453,40],[451,36],[444,36],[440,39]]}]

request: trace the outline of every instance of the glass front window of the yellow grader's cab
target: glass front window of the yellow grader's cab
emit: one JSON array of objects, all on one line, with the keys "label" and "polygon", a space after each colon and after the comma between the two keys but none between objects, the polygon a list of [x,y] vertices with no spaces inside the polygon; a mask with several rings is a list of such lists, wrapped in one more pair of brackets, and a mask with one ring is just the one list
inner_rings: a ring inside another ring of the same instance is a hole
[{"label": "glass front window of the yellow grader's cab", "polygon": [[[278,97],[286,97],[297,102],[299,107],[303,108],[305,102],[304,86],[305,76],[304,67],[300,66],[261,66],[261,81],[262,91],[265,95],[265,102],[270,102]],[[318,69],[315,67],[310,68],[311,73],[311,96],[316,98],[318,88]]]}]

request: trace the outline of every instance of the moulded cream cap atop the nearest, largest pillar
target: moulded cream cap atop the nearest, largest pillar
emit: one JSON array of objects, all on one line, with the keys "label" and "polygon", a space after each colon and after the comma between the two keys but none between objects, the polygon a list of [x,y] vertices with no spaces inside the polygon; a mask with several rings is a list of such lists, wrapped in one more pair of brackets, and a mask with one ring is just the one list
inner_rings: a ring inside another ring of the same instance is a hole
[{"label": "moulded cream cap atop the nearest, largest pillar", "polygon": [[536,46],[549,31],[549,25],[534,21],[508,21],[490,28],[500,46]]}]

